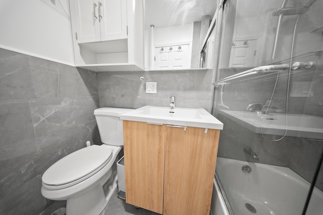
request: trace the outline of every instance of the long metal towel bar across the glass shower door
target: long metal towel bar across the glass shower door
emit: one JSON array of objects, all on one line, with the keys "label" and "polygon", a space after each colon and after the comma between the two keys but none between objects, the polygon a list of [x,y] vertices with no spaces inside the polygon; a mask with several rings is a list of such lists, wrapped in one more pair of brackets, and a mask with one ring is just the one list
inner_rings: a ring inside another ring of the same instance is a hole
[{"label": "long metal towel bar across the glass shower door", "polygon": [[258,73],[271,73],[279,70],[284,70],[289,68],[288,64],[278,64],[278,65],[264,65],[264,66],[258,66],[246,71],[242,71],[241,73],[238,73],[236,75],[229,76],[224,79],[220,79],[219,81],[213,82],[212,85],[226,85],[228,81],[235,80],[238,78],[242,78],[245,76],[250,76],[253,74],[258,74]]}]

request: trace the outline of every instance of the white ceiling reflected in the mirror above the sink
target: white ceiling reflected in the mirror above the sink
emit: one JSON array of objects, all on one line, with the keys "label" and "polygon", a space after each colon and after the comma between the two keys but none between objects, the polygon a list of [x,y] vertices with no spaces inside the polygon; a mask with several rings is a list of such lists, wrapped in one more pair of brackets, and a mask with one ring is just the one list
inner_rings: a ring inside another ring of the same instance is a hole
[{"label": "white ceiling reflected in the mirror above the sink", "polygon": [[216,12],[216,0],[144,0],[144,25],[156,28],[201,21]]}]

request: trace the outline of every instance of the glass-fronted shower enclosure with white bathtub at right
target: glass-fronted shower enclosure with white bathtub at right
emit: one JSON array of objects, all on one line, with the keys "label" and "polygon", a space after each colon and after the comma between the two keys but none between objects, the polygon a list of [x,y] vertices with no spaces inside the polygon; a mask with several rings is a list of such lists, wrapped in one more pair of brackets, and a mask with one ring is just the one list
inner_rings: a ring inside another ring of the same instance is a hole
[{"label": "glass-fronted shower enclosure with white bathtub at right", "polygon": [[222,1],[212,114],[231,214],[323,214],[323,1]]}]

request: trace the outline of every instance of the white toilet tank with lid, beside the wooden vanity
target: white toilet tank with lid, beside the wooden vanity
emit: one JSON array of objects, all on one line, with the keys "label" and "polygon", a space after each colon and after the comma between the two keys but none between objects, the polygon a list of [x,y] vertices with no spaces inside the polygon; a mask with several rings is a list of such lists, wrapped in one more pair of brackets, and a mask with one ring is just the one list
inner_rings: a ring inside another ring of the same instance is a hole
[{"label": "white toilet tank with lid, beside the wooden vanity", "polygon": [[120,115],[133,109],[98,108],[94,115],[103,144],[123,146],[123,125]]}]

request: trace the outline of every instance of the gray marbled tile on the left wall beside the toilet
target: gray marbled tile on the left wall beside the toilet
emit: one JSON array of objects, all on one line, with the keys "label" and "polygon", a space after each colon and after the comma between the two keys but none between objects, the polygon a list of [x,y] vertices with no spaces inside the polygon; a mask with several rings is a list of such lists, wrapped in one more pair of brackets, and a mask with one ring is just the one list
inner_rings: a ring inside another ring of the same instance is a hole
[{"label": "gray marbled tile on the left wall beside the toilet", "polygon": [[0,49],[0,214],[39,214],[41,174],[99,143],[96,74]]}]

